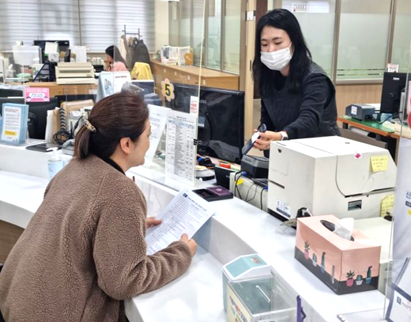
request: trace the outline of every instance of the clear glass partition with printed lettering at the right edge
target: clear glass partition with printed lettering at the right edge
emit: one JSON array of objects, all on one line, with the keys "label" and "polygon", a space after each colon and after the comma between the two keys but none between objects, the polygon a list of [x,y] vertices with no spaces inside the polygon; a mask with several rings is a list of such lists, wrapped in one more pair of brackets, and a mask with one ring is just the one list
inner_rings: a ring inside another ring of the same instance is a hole
[{"label": "clear glass partition with printed lettering at the right edge", "polygon": [[[399,12],[400,15],[403,12]],[[399,141],[397,156],[397,190],[395,193],[395,221],[393,229],[393,266],[390,287],[386,292],[385,315],[386,321],[406,321],[410,319],[408,304],[411,302],[411,251],[407,247],[411,229],[411,35],[409,28],[403,30],[408,37],[403,38],[401,47],[408,47],[408,66],[402,71],[407,73],[406,85],[403,88],[404,99],[401,99],[400,111],[403,111],[403,122],[395,123],[395,136]],[[397,30],[397,32],[401,32]]]}]

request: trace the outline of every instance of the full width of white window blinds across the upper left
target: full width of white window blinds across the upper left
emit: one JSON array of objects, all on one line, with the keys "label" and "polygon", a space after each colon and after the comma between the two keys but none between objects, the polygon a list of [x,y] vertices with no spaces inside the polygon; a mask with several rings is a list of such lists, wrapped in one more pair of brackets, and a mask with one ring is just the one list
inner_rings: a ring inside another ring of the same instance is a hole
[{"label": "full width of white window blinds across the upper left", "polygon": [[155,50],[155,0],[0,0],[1,51],[17,40],[26,45],[70,40],[70,45],[102,52],[119,45],[124,25],[127,32],[140,28],[149,50]]}]

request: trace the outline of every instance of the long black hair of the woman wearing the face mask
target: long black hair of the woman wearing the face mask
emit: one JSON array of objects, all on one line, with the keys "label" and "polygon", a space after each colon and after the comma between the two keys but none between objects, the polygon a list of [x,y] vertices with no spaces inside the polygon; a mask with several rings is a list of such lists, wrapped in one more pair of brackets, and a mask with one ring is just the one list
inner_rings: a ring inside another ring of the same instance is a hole
[{"label": "long black hair of the woman wearing the face mask", "polygon": [[303,75],[308,70],[312,57],[310,50],[304,40],[300,25],[294,14],[286,9],[275,9],[267,12],[260,18],[256,30],[256,53],[253,62],[253,79],[260,86],[262,97],[273,92],[275,77],[279,77],[279,71],[272,71],[261,62],[261,32],[266,26],[283,29],[292,42],[294,53],[290,61],[290,74],[287,82],[292,92],[297,92],[301,88]]}]

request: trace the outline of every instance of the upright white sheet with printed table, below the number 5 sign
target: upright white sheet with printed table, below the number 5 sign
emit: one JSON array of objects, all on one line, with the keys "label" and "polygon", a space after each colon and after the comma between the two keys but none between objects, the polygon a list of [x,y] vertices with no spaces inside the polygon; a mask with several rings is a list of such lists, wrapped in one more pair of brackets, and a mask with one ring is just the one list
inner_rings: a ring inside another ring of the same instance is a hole
[{"label": "upright white sheet with printed table, below the number 5 sign", "polygon": [[195,156],[194,144],[197,129],[194,114],[170,111],[167,119],[166,137],[166,177],[178,179],[194,185]]}]

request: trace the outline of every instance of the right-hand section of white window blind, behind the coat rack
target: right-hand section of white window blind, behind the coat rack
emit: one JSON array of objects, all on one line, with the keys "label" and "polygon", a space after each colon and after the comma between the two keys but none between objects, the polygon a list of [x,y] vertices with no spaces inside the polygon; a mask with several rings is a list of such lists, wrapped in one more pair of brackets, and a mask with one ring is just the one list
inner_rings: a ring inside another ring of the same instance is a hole
[{"label": "right-hand section of white window blind, behind the coat rack", "polygon": [[[150,51],[155,51],[155,0],[79,0],[83,45],[104,51],[119,45],[124,25],[138,32]],[[132,36],[132,35],[127,35]]]}]

